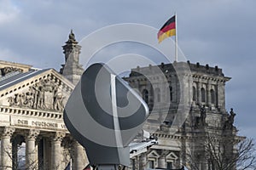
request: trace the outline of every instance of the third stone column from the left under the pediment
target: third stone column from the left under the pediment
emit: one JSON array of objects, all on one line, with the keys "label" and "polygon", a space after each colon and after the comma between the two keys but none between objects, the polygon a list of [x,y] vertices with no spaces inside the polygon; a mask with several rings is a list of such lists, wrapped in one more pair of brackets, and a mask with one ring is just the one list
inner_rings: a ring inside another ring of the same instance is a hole
[{"label": "third stone column from the left under the pediment", "polygon": [[64,137],[65,133],[56,132],[51,140],[51,170],[63,169],[61,141]]}]

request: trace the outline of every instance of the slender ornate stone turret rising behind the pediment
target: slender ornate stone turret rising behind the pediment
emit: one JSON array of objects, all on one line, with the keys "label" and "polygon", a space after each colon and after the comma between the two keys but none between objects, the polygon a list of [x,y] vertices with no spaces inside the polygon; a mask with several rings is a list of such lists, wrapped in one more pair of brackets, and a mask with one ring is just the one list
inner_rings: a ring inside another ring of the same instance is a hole
[{"label": "slender ornate stone turret rising behind the pediment", "polygon": [[73,30],[70,31],[68,40],[63,48],[63,54],[65,54],[65,64],[61,65],[60,73],[66,77],[73,84],[77,84],[81,75],[84,72],[82,65],[79,64],[79,54],[81,46],[76,41]]}]

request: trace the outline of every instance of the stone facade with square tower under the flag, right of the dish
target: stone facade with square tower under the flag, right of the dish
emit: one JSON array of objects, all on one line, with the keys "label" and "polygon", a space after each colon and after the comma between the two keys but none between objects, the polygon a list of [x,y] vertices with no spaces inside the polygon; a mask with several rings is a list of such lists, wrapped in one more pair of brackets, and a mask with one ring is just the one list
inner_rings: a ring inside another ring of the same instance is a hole
[{"label": "stone facade with square tower under the flag, right of the dish", "polygon": [[226,136],[233,139],[235,142],[227,152],[234,155],[234,146],[239,141],[233,125],[236,114],[233,110],[230,114],[226,111],[224,99],[225,83],[230,77],[224,77],[218,66],[189,61],[162,63],[137,67],[125,80],[147,102],[152,116],[144,129],[152,132],[159,142],[142,155],[131,157],[133,169],[183,166],[213,169],[204,146],[208,135],[214,140]]}]

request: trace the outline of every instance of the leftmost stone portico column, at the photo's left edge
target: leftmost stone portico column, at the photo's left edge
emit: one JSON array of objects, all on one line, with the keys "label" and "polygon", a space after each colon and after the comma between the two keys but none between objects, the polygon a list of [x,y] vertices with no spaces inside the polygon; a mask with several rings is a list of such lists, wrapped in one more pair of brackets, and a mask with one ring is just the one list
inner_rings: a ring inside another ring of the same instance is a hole
[{"label": "leftmost stone portico column, at the photo's left edge", "polygon": [[13,127],[3,127],[1,136],[1,164],[0,169],[12,170],[12,144],[11,136],[15,132]]}]

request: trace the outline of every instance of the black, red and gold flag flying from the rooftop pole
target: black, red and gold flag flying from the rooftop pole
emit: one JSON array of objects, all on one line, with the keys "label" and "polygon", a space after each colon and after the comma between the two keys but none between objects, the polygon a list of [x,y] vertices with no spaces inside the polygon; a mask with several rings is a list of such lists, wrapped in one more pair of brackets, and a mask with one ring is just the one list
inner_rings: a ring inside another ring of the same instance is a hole
[{"label": "black, red and gold flag flying from the rooftop pole", "polygon": [[166,39],[166,37],[172,37],[176,35],[175,18],[175,15],[172,16],[172,18],[167,20],[166,24],[161,27],[160,31],[158,31],[157,38],[159,43]]}]

